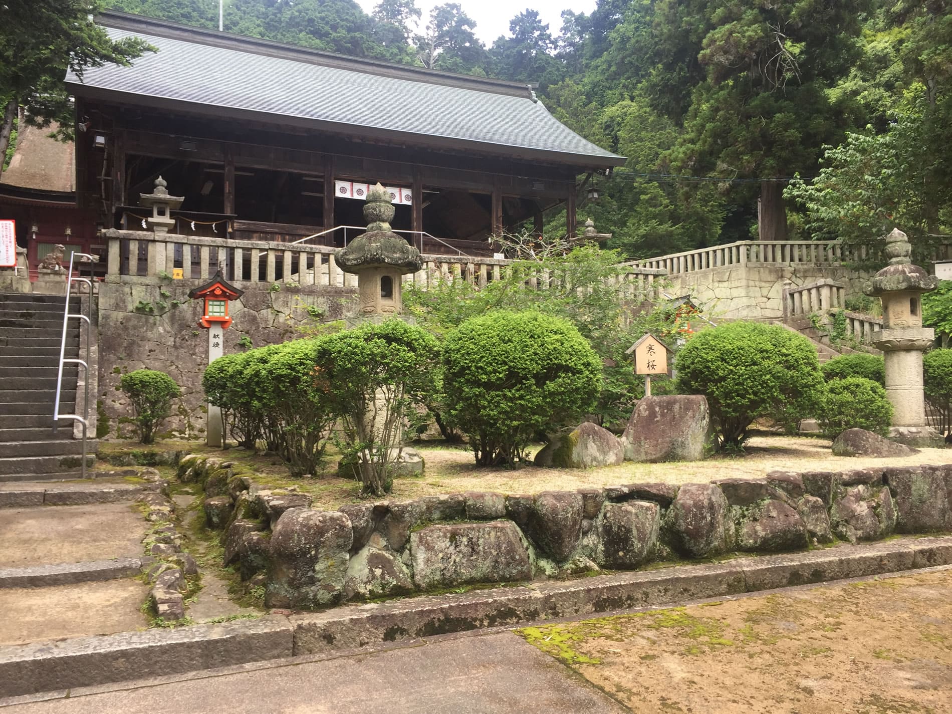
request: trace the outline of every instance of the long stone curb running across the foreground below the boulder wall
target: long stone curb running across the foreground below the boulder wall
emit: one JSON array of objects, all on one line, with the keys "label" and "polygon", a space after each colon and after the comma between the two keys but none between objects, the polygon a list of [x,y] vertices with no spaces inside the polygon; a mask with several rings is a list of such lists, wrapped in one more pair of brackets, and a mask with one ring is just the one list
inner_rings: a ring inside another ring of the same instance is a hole
[{"label": "long stone curb running across the foreground below the boulder wall", "polygon": [[952,565],[952,536],[903,538],[719,564],[345,605],[321,613],[270,615],[229,625],[0,647],[0,697],[936,565]]}]

